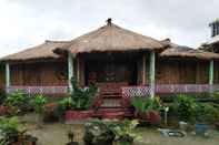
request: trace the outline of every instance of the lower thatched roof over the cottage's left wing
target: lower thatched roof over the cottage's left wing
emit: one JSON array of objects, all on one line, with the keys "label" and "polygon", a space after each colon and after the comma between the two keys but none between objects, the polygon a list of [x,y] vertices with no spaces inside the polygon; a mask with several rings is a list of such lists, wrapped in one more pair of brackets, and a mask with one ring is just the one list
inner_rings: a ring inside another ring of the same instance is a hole
[{"label": "lower thatched roof over the cottage's left wing", "polygon": [[23,50],[21,52],[10,54],[0,59],[0,61],[24,61],[36,59],[58,59],[59,55],[53,53],[53,50],[59,46],[63,46],[68,41],[49,41],[39,44],[37,46]]}]

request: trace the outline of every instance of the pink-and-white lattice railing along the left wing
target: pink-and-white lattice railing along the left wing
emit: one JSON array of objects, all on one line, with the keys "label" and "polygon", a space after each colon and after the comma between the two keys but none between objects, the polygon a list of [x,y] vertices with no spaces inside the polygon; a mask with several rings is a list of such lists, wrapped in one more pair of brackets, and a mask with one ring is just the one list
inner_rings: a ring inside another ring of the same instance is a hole
[{"label": "pink-and-white lattice railing along the left wing", "polygon": [[68,86],[9,86],[6,89],[7,93],[22,91],[27,94],[66,94]]}]

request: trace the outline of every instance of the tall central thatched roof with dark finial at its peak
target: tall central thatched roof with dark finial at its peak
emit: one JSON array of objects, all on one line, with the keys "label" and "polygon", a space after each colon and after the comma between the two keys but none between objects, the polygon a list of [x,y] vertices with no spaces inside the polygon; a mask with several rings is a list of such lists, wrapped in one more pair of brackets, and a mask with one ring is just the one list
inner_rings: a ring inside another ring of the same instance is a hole
[{"label": "tall central thatched roof with dark finial at its peak", "polygon": [[159,50],[163,44],[149,37],[122,29],[108,19],[108,24],[92,32],[81,35],[64,46],[59,46],[56,52],[106,52],[106,51],[135,51]]}]

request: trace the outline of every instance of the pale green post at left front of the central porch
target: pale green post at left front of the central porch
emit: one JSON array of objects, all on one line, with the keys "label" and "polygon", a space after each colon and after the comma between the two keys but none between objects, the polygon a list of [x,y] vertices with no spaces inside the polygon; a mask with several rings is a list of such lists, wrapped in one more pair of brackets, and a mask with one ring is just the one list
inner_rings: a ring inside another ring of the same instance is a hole
[{"label": "pale green post at left front of the central porch", "polygon": [[73,77],[73,55],[68,53],[68,84],[69,91],[72,92],[71,79]]}]

